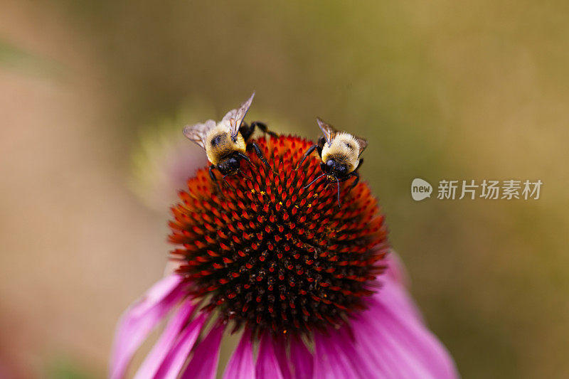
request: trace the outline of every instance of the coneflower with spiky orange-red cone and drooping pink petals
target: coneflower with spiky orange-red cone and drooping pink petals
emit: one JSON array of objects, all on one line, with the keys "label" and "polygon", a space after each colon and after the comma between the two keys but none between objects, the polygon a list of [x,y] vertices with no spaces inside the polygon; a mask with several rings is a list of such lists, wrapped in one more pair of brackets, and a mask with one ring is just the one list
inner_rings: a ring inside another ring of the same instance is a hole
[{"label": "coneflower with spiky orange-red cone and drooping pink petals", "polygon": [[[366,183],[311,183],[311,142],[259,139],[242,175],[217,186],[207,169],[172,208],[175,274],[124,314],[111,378],[171,314],[136,378],[215,378],[223,333],[243,331],[224,378],[455,378],[388,256],[387,229]],[[256,352],[256,353],[255,353]]]}]

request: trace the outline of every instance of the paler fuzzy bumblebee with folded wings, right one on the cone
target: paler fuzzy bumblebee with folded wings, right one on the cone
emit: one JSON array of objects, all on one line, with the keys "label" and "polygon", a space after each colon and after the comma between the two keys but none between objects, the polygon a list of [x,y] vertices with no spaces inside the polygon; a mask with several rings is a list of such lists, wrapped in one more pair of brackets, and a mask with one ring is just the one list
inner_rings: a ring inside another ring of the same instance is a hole
[{"label": "paler fuzzy bumblebee with folded wings, right one on the cone", "polygon": [[304,156],[300,160],[298,166],[302,165],[304,159],[312,154],[314,150],[318,151],[320,156],[320,169],[323,174],[318,176],[316,179],[311,181],[307,188],[312,185],[312,183],[318,181],[323,176],[326,176],[329,180],[336,181],[338,188],[338,206],[340,207],[340,182],[347,181],[349,178],[354,176],[356,179],[353,181],[349,191],[359,181],[358,167],[363,163],[363,159],[360,158],[363,150],[368,146],[368,142],[360,137],[355,137],[346,132],[338,132],[334,127],[326,122],[317,118],[318,126],[324,134],[318,139],[318,143],[310,146]]}]

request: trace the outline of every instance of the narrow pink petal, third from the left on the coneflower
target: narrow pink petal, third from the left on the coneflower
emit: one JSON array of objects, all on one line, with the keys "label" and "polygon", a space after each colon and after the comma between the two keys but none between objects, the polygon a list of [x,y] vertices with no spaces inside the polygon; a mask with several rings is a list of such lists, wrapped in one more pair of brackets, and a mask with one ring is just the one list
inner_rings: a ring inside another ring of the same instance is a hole
[{"label": "narrow pink petal, third from the left on the coneflower", "polygon": [[197,319],[193,320],[191,324],[184,328],[178,338],[178,341],[176,341],[174,346],[171,348],[164,359],[164,362],[160,366],[158,373],[156,373],[156,378],[178,378],[180,370],[184,367],[184,363],[186,362],[194,343],[196,343],[205,322],[206,316],[204,314],[200,314]]}]

